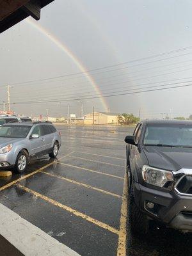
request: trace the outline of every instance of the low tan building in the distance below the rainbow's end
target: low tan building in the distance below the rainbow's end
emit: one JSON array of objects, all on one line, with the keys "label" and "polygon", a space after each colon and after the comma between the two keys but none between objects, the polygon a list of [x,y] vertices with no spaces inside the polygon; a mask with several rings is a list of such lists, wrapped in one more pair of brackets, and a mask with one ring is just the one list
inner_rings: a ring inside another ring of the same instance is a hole
[{"label": "low tan building in the distance below the rainbow's end", "polygon": [[94,112],[84,116],[84,124],[117,124],[118,113]]}]

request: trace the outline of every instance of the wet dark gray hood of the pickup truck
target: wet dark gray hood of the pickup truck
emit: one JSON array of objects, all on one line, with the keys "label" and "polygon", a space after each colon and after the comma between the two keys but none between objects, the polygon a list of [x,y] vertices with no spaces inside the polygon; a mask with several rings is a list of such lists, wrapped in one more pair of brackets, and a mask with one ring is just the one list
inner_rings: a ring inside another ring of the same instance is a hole
[{"label": "wet dark gray hood of the pickup truck", "polygon": [[150,166],[177,171],[192,169],[192,148],[143,146]]}]

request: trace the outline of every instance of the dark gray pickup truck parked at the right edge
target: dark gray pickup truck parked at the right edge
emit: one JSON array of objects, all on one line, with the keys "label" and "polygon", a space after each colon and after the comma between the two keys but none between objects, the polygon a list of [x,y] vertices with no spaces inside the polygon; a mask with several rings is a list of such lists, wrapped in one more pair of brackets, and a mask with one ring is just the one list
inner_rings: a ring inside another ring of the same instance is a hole
[{"label": "dark gray pickup truck parked at the right edge", "polygon": [[125,142],[132,234],[149,220],[192,232],[192,122],[143,121]]}]

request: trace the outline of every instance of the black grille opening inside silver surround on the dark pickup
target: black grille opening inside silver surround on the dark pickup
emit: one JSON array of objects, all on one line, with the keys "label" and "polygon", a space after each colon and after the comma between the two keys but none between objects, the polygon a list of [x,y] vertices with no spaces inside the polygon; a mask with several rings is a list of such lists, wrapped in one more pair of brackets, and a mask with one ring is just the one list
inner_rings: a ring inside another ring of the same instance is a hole
[{"label": "black grille opening inside silver surround on the dark pickup", "polygon": [[192,175],[184,175],[177,183],[176,189],[181,194],[192,195]]}]

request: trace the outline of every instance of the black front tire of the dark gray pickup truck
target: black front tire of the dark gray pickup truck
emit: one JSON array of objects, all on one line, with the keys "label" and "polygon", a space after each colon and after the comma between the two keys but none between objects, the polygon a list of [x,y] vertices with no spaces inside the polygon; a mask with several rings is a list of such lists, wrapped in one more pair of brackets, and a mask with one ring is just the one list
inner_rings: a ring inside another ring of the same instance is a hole
[{"label": "black front tire of the dark gray pickup truck", "polygon": [[142,236],[148,232],[148,220],[147,216],[143,214],[134,201],[134,187],[131,184],[129,193],[129,225],[131,234],[136,236]]}]

